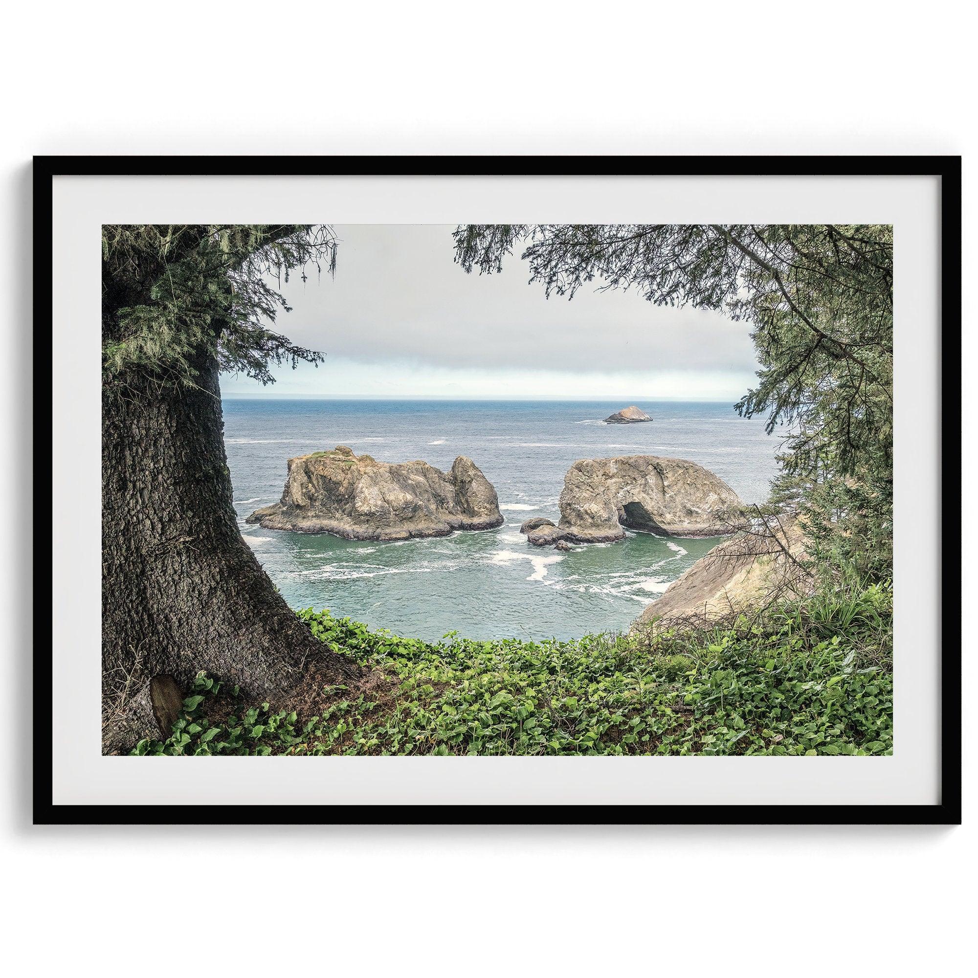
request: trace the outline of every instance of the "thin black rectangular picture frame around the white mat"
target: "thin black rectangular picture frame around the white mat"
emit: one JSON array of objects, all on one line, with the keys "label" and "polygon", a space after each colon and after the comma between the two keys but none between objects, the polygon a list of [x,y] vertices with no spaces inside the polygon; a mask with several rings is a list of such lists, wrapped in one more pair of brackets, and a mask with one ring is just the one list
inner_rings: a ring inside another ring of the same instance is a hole
[{"label": "thin black rectangular picture frame around the white mat", "polygon": [[[940,539],[961,530],[961,158],[960,156],[35,156],[34,418],[53,421],[40,376],[53,349],[50,230],[58,176],[936,176],[940,194]],[[34,507],[54,505],[38,480]],[[38,550],[50,524],[35,526]],[[77,805],[53,803],[51,631],[33,650],[35,824],[958,824],[961,821],[961,555],[941,551],[940,802],[934,805]],[[34,562],[34,617],[50,611],[51,578]],[[54,612],[57,614],[57,610]],[[46,641],[45,641],[46,640]],[[841,759],[840,759],[841,760]],[[845,763],[845,762],[843,762]],[[858,763],[858,762],[855,762]]]}]

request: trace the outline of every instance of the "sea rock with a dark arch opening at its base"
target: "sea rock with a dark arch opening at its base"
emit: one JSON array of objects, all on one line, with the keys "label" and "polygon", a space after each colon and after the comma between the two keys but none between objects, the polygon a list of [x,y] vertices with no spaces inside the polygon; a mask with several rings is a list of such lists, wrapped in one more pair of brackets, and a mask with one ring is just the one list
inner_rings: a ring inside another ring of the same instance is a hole
[{"label": "sea rock with a dark arch opening at its base", "polygon": [[559,525],[534,517],[520,531],[538,547],[621,540],[626,527],[667,537],[724,536],[742,506],[726,482],[686,459],[582,459],[564,475]]}]

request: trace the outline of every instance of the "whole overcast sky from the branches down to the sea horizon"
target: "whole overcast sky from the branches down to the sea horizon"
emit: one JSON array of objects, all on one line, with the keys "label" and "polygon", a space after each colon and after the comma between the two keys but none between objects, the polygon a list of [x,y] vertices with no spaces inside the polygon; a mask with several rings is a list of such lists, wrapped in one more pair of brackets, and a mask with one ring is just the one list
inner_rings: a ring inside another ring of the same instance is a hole
[{"label": "whole overcast sky from the branches down to the sea horizon", "polygon": [[466,275],[453,226],[346,225],[336,275],[284,286],[277,329],[322,351],[319,368],[226,395],[272,397],[660,398],[735,401],[754,379],[744,323],[586,287],[547,299],[519,250],[501,275]]}]

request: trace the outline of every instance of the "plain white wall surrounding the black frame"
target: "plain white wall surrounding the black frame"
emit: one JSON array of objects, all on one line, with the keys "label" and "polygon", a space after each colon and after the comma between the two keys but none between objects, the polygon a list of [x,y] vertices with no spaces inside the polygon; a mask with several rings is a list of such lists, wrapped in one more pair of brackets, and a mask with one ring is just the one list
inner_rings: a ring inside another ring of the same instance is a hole
[{"label": "plain white wall surrounding the black frame", "polygon": [[[340,963],[367,974],[956,973],[973,924],[970,826],[29,827],[29,487],[16,431],[29,399],[31,154],[963,153],[973,226],[973,34],[960,9],[95,0],[8,10],[8,957],[37,974],[86,960],[108,975],[221,974],[234,957],[251,973]],[[973,267],[970,241],[964,258]],[[970,293],[964,308],[973,323]],[[974,354],[972,329],[966,390]],[[43,429],[38,441],[43,481]],[[970,455],[965,466],[976,474]],[[965,587],[976,583],[967,570]],[[969,705],[965,730],[973,716]],[[967,748],[965,759],[973,766]]]}]

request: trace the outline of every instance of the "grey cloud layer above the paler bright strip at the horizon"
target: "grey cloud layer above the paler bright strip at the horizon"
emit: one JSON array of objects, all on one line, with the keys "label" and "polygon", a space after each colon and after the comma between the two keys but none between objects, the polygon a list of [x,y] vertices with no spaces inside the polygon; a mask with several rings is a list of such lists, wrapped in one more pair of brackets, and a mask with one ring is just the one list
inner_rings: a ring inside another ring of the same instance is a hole
[{"label": "grey cloud layer above the paler bright strip at the horizon", "polygon": [[614,371],[752,373],[748,328],[704,310],[655,306],[633,292],[582,290],[572,301],[528,285],[518,255],[499,275],[454,262],[453,227],[351,225],[334,279],[292,278],[290,338],[364,362]]}]

